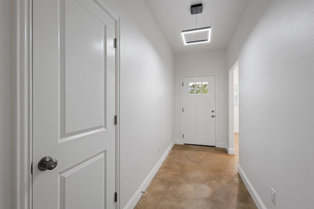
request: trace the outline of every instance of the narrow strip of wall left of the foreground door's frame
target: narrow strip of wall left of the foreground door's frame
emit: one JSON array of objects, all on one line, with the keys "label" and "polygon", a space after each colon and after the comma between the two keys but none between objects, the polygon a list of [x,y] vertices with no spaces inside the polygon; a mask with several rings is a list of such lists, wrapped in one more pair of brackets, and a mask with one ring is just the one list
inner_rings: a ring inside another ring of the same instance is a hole
[{"label": "narrow strip of wall left of the foreground door's frame", "polygon": [[0,209],[14,207],[14,6],[0,1]]}]

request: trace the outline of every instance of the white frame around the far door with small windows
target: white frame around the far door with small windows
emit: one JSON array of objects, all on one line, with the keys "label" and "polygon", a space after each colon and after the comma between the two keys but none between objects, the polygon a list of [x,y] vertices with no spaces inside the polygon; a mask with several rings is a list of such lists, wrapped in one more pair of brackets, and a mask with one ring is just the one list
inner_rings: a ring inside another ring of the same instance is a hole
[{"label": "white frame around the far door with small windows", "polygon": [[183,74],[180,75],[180,144],[183,144],[183,78],[185,77],[199,77],[199,76],[214,76],[215,77],[215,111],[217,117],[215,117],[215,147],[219,147],[218,144],[218,74],[217,73],[201,73],[201,74]]}]

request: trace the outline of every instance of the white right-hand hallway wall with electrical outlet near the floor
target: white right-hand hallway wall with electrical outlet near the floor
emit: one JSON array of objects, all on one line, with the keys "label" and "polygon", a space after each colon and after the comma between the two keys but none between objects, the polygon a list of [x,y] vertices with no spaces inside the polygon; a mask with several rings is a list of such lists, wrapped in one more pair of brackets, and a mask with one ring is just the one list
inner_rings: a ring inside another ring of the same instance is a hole
[{"label": "white right-hand hallway wall with electrical outlet near the floor", "polygon": [[314,205],[313,11],[252,0],[227,48],[228,67],[239,59],[239,165],[267,209]]}]

